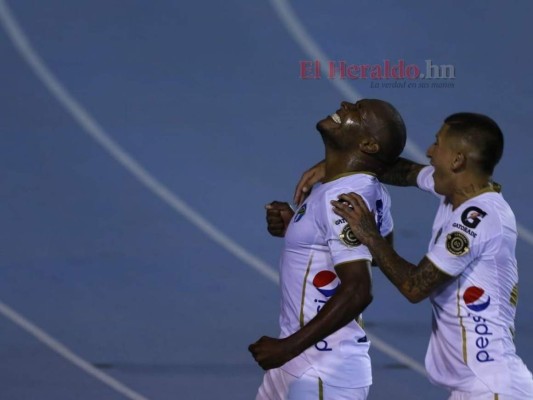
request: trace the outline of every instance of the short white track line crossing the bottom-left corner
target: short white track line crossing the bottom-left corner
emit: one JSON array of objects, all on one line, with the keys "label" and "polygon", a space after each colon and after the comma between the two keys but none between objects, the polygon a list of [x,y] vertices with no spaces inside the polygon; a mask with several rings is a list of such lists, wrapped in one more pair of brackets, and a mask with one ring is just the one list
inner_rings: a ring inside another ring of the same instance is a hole
[{"label": "short white track line crossing the bottom-left corner", "polygon": [[[1,6],[0,6],[1,7]],[[104,374],[102,371],[98,370],[91,364],[89,364],[87,361],[85,361],[80,356],[74,354],[71,350],[69,350],[67,347],[59,343],[57,340],[55,340],[53,337],[48,335],[45,331],[43,331],[38,326],[34,325],[30,321],[28,321],[26,318],[24,318],[22,315],[17,313],[15,310],[10,308],[9,306],[5,305],[0,301],[0,314],[2,314],[7,319],[14,322],[16,325],[18,325],[20,328],[24,329],[26,332],[30,333],[32,336],[34,336],[37,340],[39,340],[41,343],[44,343],[46,346],[54,350],[56,353],[58,353],[61,357],[65,358],[66,360],[70,361],[72,364],[76,365],[77,367],[81,368],[83,371],[87,372],[89,375],[93,376],[94,378],[98,379],[99,381],[105,383],[110,388],[116,390],[117,392],[123,394],[125,397],[131,400],[148,400],[146,397],[140,395],[139,393],[131,390],[129,387],[124,385],[123,383],[117,381],[115,378],[112,378],[111,376]]]}]

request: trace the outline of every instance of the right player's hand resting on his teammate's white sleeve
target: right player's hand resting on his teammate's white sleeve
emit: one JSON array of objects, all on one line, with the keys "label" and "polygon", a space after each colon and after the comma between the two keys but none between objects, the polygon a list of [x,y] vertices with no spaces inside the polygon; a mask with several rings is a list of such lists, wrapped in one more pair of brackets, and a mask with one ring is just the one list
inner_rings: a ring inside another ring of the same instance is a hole
[{"label": "right player's hand resting on his teammate's white sleeve", "polygon": [[333,200],[331,204],[333,212],[348,222],[352,233],[364,245],[370,242],[372,236],[380,235],[374,213],[358,194],[341,194],[339,200]]}]

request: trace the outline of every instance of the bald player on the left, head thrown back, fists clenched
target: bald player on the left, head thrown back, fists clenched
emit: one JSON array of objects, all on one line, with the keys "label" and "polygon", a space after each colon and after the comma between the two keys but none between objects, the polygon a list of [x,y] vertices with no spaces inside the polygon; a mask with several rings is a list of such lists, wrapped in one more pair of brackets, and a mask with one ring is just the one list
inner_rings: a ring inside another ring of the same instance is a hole
[{"label": "bald player on the left, head thrown back, fists clenched", "polygon": [[357,191],[390,237],[390,198],[376,174],[402,152],[405,125],[392,105],[366,99],[341,103],[317,130],[326,150],[322,183],[296,213],[287,203],[267,206],[269,232],[284,236],[285,247],[280,337],[263,336],[249,347],[267,370],[258,400],[364,400],[372,383],[370,343],[360,326],[372,301],[372,256],[330,202]]}]

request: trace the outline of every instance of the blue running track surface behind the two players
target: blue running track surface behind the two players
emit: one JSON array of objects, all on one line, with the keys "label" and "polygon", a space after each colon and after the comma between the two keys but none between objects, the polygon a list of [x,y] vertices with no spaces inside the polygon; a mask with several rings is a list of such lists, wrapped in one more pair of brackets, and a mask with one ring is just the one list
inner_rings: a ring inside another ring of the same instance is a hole
[{"label": "blue running track surface behind the two players", "polygon": [[[265,203],[290,200],[323,157],[315,123],[344,96],[273,2],[30,0],[9,6],[43,62],[113,140],[172,193],[275,268]],[[527,1],[306,1],[295,14],[329,59],[455,67],[453,88],[348,85],[392,102],[420,148],[457,111],[506,135],[495,175],[517,220],[530,212],[533,36]],[[278,289],[143,186],[51,95],[0,30],[0,300],[149,399],[252,399],[247,352],[278,333]],[[419,82],[419,81],[416,81]],[[355,100],[347,99],[347,100]],[[407,154],[409,156],[409,154]],[[418,261],[436,200],[391,188],[398,251]],[[533,246],[517,248],[517,347],[533,365]],[[374,274],[372,334],[423,363],[428,302],[410,305]],[[0,398],[120,399],[0,318]],[[446,392],[372,350],[370,399]]]}]

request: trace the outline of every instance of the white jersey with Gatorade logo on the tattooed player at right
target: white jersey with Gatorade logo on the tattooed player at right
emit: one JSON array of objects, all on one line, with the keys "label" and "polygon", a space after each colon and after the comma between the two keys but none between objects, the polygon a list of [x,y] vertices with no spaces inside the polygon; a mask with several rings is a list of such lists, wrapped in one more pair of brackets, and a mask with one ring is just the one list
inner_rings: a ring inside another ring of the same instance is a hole
[{"label": "white jersey with Gatorade logo on the tattooed player at right", "polygon": [[[417,183],[436,194],[433,171],[422,169]],[[532,378],[513,343],[518,297],[514,214],[496,192],[479,194],[455,210],[439,197],[427,257],[455,279],[430,296],[430,380],[465,392],[481,380],[491,392],[533,398],[532,392],[521,391],[531,390]]]}]

